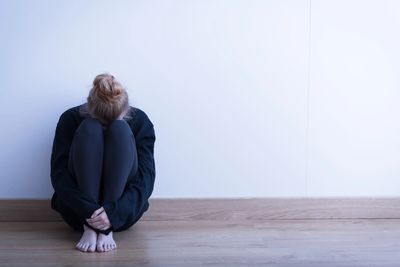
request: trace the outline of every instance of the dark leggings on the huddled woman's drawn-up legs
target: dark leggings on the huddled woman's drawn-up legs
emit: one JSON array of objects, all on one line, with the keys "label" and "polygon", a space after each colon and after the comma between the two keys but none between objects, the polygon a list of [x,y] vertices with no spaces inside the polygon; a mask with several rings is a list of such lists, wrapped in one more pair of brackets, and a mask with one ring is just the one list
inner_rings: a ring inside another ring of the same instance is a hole
[{"label": "dark leggings on the huddled woman's drawn-up legs", "polygon": [[[84,119],[76,129],[69,158],[79,189],[99,205],[122,195],[138,159],[132,130],[124,120],[114,120],[107,128],[95,118]],[[85,220],[85,225],[96,232]]]}]

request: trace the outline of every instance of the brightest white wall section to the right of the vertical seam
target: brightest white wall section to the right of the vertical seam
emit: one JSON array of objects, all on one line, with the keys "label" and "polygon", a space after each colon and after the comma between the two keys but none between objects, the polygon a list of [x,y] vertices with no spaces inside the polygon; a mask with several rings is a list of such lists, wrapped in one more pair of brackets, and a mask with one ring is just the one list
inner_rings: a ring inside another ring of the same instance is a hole
[{"label": "brightest white wall section to the right of the vertical seam", "polygon": [[400,195],[399,14],[399,1],[312,1],[310,195]]}]

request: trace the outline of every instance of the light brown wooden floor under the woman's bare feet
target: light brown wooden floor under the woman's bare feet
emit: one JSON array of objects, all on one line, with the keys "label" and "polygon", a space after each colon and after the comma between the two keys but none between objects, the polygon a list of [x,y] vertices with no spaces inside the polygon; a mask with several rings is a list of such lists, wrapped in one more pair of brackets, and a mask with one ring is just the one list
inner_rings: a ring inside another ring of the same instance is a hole
[{"label": "light brown wooden floor under the woman's bare feet", "polygon": [[83,253],[64,222],[0,222],[0,266],[400,266],[399,219],[155,220]]}]

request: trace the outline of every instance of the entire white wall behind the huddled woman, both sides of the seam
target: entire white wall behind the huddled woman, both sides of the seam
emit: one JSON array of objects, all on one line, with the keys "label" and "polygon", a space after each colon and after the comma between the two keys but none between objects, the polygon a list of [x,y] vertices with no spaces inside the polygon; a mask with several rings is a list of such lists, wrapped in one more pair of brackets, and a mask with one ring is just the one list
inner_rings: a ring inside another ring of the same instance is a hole
[{"label": "entire white wall behind the huddled woman, both sides of the seam", "polygon": [[113,73],[153,197],[400,195],[400,2],[2,1],[0,198],[49,198],[60,114]]}]

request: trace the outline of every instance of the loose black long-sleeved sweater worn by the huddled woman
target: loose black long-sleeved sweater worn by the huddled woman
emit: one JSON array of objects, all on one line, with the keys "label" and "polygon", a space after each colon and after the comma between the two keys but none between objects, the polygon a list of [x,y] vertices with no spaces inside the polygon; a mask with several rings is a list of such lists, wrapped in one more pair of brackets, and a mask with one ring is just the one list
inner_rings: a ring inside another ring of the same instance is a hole
[{"label": "loose black long-sleeved sweater worn by the huddled woman", "polygon": [[[84,105],[84,104],[82,104]],[[67,168],[69,149],[75,130],[85,117],[79,113],[82,105],[64,111],[57,123],[51,153],[51,183],[54,188],[51,208],[55,201],[62,201],[81,218],[90,218],[101,206],[79,190],[75,177]],[[148,199],[153,192],[156,176],[154,162],[154,125],[147,114],[139,108],[130,107],[132,119],[127,119],[135,136],[138,155],[138,171],[128,177],[122,196],[103,205],[115,230],[127,222],[128,217],[137,218],[149,208]],[[57,210],[58,211],[58,210]]]}]

